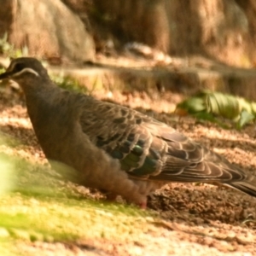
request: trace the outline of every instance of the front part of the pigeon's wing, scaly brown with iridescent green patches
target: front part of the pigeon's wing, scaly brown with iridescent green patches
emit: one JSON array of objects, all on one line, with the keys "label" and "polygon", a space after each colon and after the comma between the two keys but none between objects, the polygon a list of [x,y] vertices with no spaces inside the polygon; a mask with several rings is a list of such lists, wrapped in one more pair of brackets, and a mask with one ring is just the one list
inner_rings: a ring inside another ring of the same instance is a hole
[{"label": "front part of the pigeon's wing, scaly brown with iridescent green patches", "polygon": [[125,172],[143,177],[160,172],[166,150],[166,143],[154,139],[143,126],[149,120],[130,108],[91,100],[90,108],[84,108],[80,124],[93,143],[120,161]]}]

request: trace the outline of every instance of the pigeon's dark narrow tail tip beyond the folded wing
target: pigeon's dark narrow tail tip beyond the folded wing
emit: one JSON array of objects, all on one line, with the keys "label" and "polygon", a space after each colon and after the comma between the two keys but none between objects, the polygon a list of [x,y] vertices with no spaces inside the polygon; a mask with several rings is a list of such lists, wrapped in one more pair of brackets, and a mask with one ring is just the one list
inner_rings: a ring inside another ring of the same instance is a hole
[{"label": "pigeon's dark narrow tail tip beyond the folded wing", "polygon": [[238,189],[247,195],[252,195],[256,197],[256,177],[255,176],[249,176],[244,180],[237,181],[234,183],[226,183],[228,186]]}]

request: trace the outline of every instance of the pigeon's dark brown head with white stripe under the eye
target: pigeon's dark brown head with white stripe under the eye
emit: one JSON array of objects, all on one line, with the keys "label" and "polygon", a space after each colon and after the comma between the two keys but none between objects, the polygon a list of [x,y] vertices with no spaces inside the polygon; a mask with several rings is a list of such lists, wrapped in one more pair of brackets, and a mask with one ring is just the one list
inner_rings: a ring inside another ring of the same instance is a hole
[{"label": "pigeon's dark brown head with white stripe under the eye", "polygon": [[41,62],[28,57],[12,60],[5,73],[0,74],[0,80],[11,79],[20,85],[30,79],[45,78],[48,78],[48,73]]}]

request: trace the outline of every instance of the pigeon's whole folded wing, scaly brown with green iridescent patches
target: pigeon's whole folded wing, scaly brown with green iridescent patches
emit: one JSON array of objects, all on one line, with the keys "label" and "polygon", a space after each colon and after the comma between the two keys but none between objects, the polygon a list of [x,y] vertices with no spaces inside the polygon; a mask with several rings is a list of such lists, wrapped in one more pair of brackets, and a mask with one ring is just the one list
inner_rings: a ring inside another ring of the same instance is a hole
[{"label": "pigeon's whole folded wing, scaly brown with green iridescent patches", "polygon": [[227,160],[143,113],[91,100],[80,123],[99,148],[137,178],[170,182],[230,182],[244,173]]}]

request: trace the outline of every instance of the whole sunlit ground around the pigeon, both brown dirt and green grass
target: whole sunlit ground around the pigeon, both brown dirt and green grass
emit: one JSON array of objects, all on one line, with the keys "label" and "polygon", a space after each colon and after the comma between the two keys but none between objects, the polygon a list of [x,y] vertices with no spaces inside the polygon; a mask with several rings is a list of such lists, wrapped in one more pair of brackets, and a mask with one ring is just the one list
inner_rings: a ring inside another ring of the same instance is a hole
[{"label": "whole sunlit ground around the pigeon, both brown dirt and green grass", "polygon": [[[93,95],[154,116],[256,174],[254,125],[224,130],[172,111],[161,113],[183,97],[171,92],[157,98],[109,91]],[[62,181],[50,169],[24,97],[14,88],[1,89],[0,131],[0,152],[14,162],[13,189],[0,197],[3,255],[256,254],[256,199],[249,195],[212,184],[172,183],[150,196],[146,211],[121,199],[106,204],[104,195]]]}]

